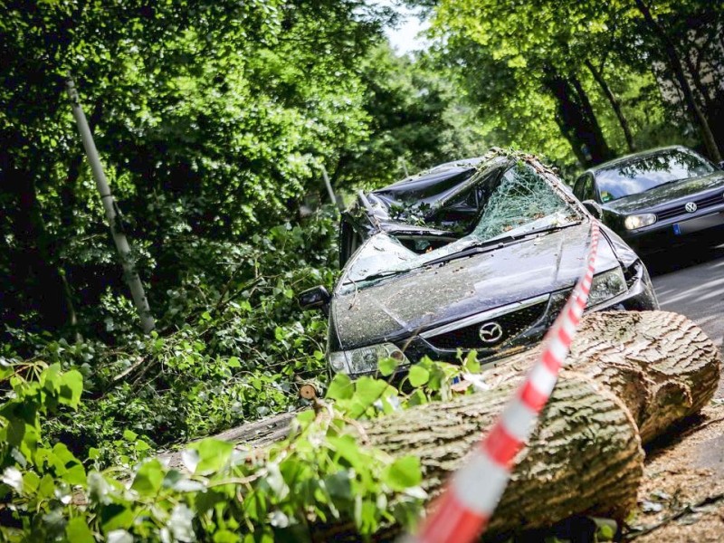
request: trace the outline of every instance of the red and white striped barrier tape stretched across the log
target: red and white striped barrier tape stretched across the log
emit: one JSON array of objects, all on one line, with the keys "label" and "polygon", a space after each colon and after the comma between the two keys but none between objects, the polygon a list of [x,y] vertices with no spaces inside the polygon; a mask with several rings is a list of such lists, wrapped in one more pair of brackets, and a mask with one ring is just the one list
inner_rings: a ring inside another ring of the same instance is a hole
[{"label": "red and white striped barrier tape stretched across the log", "polygon": [[468,543],[480,537],[510,479],[513,459],[528,441],[538,414],[556,386],[586,309],[594,278],[599,228],[591,224],[591,242],[585,275],[548,330],[546,348],[529,371],[516,395],[505,406],[491,432],[476,445],[471,457],[447,482],[443,494],[433,503],[418,533],[405,543]]}]

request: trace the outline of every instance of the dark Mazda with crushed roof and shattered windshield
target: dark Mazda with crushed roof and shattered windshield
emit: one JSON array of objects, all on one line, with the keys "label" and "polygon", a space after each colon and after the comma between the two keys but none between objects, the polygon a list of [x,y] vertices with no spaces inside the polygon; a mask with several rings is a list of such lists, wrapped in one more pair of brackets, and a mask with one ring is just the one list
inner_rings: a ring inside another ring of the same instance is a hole
[{"label": "dark Mazda with crushed roof and shattered windshield", "polygon": [[[542,338],[582,271],[592,216],[532,157],[494,152],[367,195],[343,215],[334,291],[300,294],[329,314],[331,372],[393,357],[482,363]],[[588,310],[653,310],[643,262],[602,228]]]}]

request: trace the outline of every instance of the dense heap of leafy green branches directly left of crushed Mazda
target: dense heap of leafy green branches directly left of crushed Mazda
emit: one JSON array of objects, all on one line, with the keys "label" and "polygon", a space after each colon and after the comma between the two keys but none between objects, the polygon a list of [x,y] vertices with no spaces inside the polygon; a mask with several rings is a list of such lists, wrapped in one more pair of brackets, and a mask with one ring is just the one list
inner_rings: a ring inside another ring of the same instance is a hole
[{"label": "dense heap of leafy green branches directly left of crushed Mazda", "polygon": [[251,243],[198,243],[197,271],[168,294],[167,330],[138,337],[123,328],[130,316],[106,313],[119,347],[44,341],[35,357],[78,367],[90,393],[78,413],[52,420],[52,436],[128,464],[138,454],[126,431],[157,448],[295,407],[299,381],[324,370],[326,321],[294,299],[333,281],[335,230],[320,215]]}]

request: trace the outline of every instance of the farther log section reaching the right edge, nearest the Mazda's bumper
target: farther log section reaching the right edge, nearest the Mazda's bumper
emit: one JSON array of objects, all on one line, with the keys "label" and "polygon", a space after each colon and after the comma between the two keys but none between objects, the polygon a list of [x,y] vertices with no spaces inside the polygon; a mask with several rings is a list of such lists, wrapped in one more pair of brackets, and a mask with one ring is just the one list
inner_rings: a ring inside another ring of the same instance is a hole
[{"label": "farther log section reaching the right edge, nearest the Mazda's bumper", "polygon": [[[519,382],[538,354],[503,359],[486,380]],[[566,363],[621,398],[643,443],[699,412],[719,385],[719,349],[690,319],[666,311],[586,315]]]}]

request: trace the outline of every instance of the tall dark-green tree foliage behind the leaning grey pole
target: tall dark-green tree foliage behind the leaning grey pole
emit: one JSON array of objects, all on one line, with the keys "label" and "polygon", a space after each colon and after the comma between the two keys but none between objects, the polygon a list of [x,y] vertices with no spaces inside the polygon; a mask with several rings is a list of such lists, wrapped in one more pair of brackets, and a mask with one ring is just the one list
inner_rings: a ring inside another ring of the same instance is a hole
[{"label": "tall dark-green tree foliage behind the leaning grey pole", "polygon": [[157,314],[190,269],[189,244],[295,219],[319,190],[319,160],[367,136],[357,59],[384,13],[345,0],[147,4],[0,3],[0,291],[11,326],[67,333],[75,319],[71,332],[96,336],[102,320],[89,309],[125,288],[67,72]]}]

